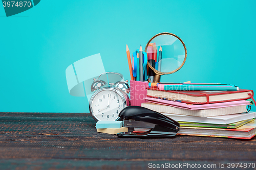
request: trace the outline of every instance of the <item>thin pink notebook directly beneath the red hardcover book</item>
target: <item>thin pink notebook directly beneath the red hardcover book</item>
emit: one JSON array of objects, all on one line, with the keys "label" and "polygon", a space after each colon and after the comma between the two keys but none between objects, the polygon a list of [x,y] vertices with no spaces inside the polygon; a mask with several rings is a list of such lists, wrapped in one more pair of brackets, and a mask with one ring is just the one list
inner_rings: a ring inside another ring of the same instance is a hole
[{"label": "thin pink notebook directly beneath the red hardcover book", "polygon": [[144,98],[146,102],[152,102],[161,105],[173,106],[183,109],[189,110],[201,110],[201,109],[214,109],[214,108],[223,108],[223,107],[231,107],[231,106],[240,106],[240,105],[250,105],[249,101],[232,101],[232,102],[222,102],[222,103],[212,103],[212,104],[202,104],[202,105],[193,105],[193,104],[186,104],[181,102],[175,101],[168,101],[156,98]]}]

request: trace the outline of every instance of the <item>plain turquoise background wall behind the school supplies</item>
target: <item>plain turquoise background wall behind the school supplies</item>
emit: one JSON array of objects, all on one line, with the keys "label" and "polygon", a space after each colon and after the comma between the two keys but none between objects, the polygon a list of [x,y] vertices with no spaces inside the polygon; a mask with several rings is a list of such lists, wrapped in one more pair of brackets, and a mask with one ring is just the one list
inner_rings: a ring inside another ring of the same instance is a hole
[{"label": "plain turquoise background wall behind the school supplies", "polygon": [[[89,112],[65,70],[100,53],[106,71],[130,79],[135,51],[155,34],[178,35],[187,61],[162,81],[255,87],[256,1],[41,1],[6,17],[0,7],[0,111]],[[252,110],[255,111],[253,106]]]}]

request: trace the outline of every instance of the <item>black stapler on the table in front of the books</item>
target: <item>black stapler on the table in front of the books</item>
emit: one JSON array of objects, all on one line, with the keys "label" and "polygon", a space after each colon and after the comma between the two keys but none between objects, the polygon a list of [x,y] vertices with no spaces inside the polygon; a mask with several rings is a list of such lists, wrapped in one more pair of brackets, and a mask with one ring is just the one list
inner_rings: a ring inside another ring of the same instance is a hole
[{"label": "black stapler on the table in front of the books", "polygon": [[180,130],[180,124],[175,120],[140,106],[128,106],[124,108],[119,113],[119,117],[123,118],[124,127],[128,129],[134,128],[134,130],[120,132],[117,134],[118,137],[173,137]]}]

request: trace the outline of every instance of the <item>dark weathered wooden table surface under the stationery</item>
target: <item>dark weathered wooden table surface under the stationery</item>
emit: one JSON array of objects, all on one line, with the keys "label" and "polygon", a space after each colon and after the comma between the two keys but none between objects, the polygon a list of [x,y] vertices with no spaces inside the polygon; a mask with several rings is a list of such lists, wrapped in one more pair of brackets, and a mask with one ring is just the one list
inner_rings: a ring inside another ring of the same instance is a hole
[{"label": "dark weathered wooden table surface under the stationery", "polygon": [[220,163],[256,163],[256,137],[118,138],[96,132],[89,113],[0,113],[0,122],[1,169],[154,169],[148,163],[223,169]]}]

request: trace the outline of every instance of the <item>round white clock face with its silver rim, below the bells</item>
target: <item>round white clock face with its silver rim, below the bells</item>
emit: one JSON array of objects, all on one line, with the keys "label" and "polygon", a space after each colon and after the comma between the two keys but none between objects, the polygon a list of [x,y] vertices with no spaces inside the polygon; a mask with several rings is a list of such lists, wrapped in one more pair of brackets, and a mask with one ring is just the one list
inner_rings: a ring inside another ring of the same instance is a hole
[{"label": "round white clock face with its silver rim, below the bells", "polygon": [[125,95],[115,88],[102,88],[95,92],[89,108],[92,117],[98,120],[118,120],[120,111],[126,107]]}]

